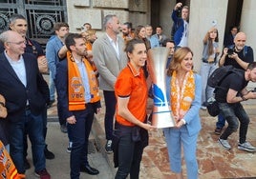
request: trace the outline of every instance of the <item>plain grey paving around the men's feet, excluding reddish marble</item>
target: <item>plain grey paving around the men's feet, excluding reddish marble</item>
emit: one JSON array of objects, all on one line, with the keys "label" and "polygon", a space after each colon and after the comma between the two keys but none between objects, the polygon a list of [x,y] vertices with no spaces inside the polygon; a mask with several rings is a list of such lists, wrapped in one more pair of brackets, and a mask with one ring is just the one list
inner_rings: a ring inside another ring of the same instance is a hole
[{"label": "plain grey paving around the men's feet, excluding reddish marble", "polygon": [[[90,142],[90,150],[93,152],[89,155],[89,162],[93,167],[99,170],[99,174],[94,176],[81,173],[80,179],[113,179],[112,170],[96,146],[96,142],[93,136],[90,137]],[[55,158],[53,160],[46,161],[47,169],[52,175],[52,179],[69,179],[70,154],[66,151],[68,137],[67,134],[60,131],[58,122],[48,123],[47,144],[49,145],[49,149],[51,149],[55,154]],[[31,151],[29,151],[28,159],[32,164]],[[37,178],[33,174],[33,168],[27,170],[26,175],[28,179]]]}]

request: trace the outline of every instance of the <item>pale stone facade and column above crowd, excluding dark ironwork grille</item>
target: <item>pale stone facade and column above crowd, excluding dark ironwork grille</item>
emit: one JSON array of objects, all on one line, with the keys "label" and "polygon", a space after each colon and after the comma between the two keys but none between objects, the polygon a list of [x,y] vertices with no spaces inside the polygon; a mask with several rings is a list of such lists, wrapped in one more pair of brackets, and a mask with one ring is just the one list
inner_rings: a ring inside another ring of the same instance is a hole
[{"label": "pale stone facade and column above crowd, excluding dark ironwork grille", "polygon": [[221,49],[224,32],[236,24],[247,34],[247,45],[256,51],[256,26],[252,26],[256,1],[253,0],[67,0],[68,23],[71,31],[78,32],[85,22],[89,22],[100,35],[103,17],[112,13],[117,14],[121,23],[132,22],[134,28],[146,24],[160,25],[170,36],[170,15],[177,2],[190,7],[189,47],[194,51],[195,70],[200,69],[203,36],[213,22],[219,30]]}]

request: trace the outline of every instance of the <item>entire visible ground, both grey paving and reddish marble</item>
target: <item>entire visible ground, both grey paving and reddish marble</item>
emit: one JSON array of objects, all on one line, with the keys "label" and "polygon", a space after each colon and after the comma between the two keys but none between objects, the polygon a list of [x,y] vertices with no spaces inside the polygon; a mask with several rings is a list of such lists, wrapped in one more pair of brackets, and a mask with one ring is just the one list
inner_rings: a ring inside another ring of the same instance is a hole
[{"label": "entire visible ground, both grey paving and reddish marble", "polygon": [[[104,101],[102,101],[104,107]],[[251,123],[248,130],[248,140],[256,146],[256,100],[245,102],[245,109],[251,116]],[[52,175],[52,179],[68,179],[69,177],[69,158],[67,153],[68,137],[59,129],[57,122],[55,104],[48,110],[49,123],[46,143],[49,149],[55,154],[55,159],[47,160],[47,169]],[[99,169],[100,173],[96,176],[81,173],[81,179],[113,179],[116,169],[113,168],[113,155],[104,152],[105,133],[104,133],[104,108],[101,113],[96,115],[90,136],[89,155],[90,164]],[[203,129],[198,140],[198,161],[200,179],[219,179],[219,178],[253,178],[256,179],[256,153],[240,151],[236,148],[238,132],[230,137],[233,149],[226,151],[217,144],[218,136],[213,133],[216,118],[209,117],[207,112],[201,110]],[[32,164],[31,151],[28,157]],[[184,165],[182,168],[185,171]],[[28,179],[36,178],[33,168],[26,172]],[[140,168],[141,179],[171,179],[173,173],[169,169],[169,161],[166,144],[161,130],[150,133],[150,144],[143,153]]]}]

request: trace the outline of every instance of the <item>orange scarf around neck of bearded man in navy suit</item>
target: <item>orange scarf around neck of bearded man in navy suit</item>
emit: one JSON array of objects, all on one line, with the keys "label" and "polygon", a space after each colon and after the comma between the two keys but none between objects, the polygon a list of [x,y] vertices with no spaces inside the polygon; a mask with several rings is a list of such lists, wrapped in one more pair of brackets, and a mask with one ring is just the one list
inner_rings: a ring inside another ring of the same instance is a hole
[{"label": "orange scarf around neck of bearded man in navy suit", "polygon": [[85,109],[86,103],[95,103],[96,101],[100,100],[95,71],[93,70],[90,62],[83,58],[82,62],[87,72],[91,92],[91,101],[85,101],[85,89],[83,86],[83,81],[71,51],[67,52],[67,60],[69,75],[69,110]]}]

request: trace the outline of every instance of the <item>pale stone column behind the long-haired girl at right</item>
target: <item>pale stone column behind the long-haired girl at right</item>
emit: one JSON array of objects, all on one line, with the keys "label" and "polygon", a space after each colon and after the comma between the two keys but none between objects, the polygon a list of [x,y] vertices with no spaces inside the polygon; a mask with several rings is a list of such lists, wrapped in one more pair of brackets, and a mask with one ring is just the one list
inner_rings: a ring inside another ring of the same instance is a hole
[{"label": "pale stone column behind the long-haired girl at right", "polygon": [[217,22],[220,50],[223,49],[224,27],[228,0],[191,0],[189,18],[188,47],[194,52],[195,70],[202,64],[203,37],[213,21]]}]

